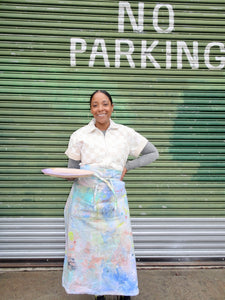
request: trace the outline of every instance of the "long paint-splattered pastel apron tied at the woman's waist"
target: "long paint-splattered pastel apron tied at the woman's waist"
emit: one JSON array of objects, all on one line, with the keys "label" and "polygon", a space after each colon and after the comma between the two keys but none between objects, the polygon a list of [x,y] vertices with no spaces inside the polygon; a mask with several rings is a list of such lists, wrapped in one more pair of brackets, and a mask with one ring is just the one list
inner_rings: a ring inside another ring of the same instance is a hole
[{"label": "long paint-splattered pastel apron tied at the woman's waist", "polygon": [[138,294],[136,261],[121,172],[82,167],[95,176],[72,186],[64,216],[63,286],[68,294]]}]

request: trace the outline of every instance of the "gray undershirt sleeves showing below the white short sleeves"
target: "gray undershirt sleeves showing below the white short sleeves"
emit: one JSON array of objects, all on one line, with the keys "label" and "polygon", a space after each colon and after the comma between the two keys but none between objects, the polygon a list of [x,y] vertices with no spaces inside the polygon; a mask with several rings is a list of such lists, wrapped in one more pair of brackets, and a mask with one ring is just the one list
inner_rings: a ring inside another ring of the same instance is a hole
[{"label": "gray undershirt sleeves showing below the white short sleeves", "polygon": [[[146,144],[146,146],[144,147],[144,149],[141,151],[141,156],[139,156],[138,158],[135,158],[133,160],[127,161],[125,167],[126,167],[127,171],[136,169],[139,167],[143,167],[143,166],[151,164],[158,157],[159,157],[158,150],[152,143],[148,142]],[[73,159],[69,158],[68,168],[79,169],[80,168],[80,160],[73,160]]]}]

